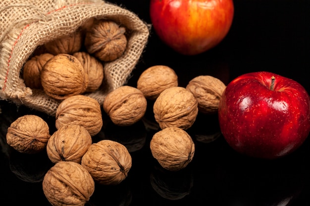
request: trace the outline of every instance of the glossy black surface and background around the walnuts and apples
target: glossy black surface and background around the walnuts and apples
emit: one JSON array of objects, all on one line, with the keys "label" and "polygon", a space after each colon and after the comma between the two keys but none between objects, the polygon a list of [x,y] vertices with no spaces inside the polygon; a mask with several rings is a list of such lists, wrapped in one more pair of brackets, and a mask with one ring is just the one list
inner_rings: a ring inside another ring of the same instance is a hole
[{"label": "glossy black surface and background around the walnuts and apples", "polygon": [[[148,0],[111,1],[147,23]],[[179,85],[198,75],[212,75],[225,84],[254,71],[270,71],[300,82],[310,91],[309,0],[234,0],[235,16],[227,37],[215,48],[196,56],[182,56],[165,46],[151,30],[145,52],[128,84],[153,65],[175,70]],[[117,186],[96,185],[87,206],[309,206],[310,139],[293,154],[274,161],[248,158],[234,152],[220,135],[216,115],[199,114],[188,129],[196,151],[193,161],[179,172],[162,169],[153,159],[149,142],[158,126],[152,103],[143,121],[118,127],[103,114],[104,138],[123,143],[132,155],[132,168]],[[49,206],[42,178],[52,165],[43,152],[17,153],[5,142],[6,129],[25,114],[46,120],[51,133],[54,118],[24,106],[0,101],[0,203]]]}]

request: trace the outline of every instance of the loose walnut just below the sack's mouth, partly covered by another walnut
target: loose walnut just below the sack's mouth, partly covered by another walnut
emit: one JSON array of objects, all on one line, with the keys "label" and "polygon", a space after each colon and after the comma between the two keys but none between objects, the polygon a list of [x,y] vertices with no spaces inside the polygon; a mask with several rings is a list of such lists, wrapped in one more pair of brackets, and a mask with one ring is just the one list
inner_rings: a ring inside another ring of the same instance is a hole
[{"label": "loose walnut just below the sack's mouth, partly covered by another walnut", "polygon": [[63,100],[56,110],[55,126],[78,124],[84,126],[91,136],[103,126],[101,107],[98,101],[85,95],[74,95]]}]

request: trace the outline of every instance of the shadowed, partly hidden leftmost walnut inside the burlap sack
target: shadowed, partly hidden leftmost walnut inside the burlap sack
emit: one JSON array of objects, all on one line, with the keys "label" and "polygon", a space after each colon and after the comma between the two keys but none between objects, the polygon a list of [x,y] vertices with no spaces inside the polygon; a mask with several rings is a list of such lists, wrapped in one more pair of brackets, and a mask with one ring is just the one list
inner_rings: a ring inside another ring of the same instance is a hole
[{"label": "shadowed, partly hidden leftmost walnut inside the burlap sack", "polygon": [[26,86],[33,89],[42,89],[41,71],[45,63],[53,56],[50,53],[43,53],[35,55],[26,61],[23,67],[23,79]]}]

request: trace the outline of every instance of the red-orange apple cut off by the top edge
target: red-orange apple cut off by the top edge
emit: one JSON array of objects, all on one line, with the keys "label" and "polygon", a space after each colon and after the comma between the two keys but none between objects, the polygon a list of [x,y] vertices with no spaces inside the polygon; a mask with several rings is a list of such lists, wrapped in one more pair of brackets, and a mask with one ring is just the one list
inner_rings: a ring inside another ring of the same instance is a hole
[{"label": "red-orange apple cut off by the top edge", "polygon": [[150,17],[158,37],[184,55],[196,55],[227,35],[232,0],[151,0]]}]

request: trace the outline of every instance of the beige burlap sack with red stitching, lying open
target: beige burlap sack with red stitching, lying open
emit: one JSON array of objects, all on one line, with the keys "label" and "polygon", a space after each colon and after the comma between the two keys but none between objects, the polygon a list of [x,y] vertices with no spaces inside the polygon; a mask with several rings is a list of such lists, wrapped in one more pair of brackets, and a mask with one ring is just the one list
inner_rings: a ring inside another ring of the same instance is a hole
[{"label": "beige burlap sack with red stitching, lying open", "polygon": [[60,101],[26,87],[23,65],[40,45],[76,31],[93,17],[113,20],[129,31],[123,56],[104,63],[104,86],[85,94],[103,104],[109,91],[128,81],[147,44],[149,26],[131,11],[103,0],[1,0],[0,99],[54,116]]}]

